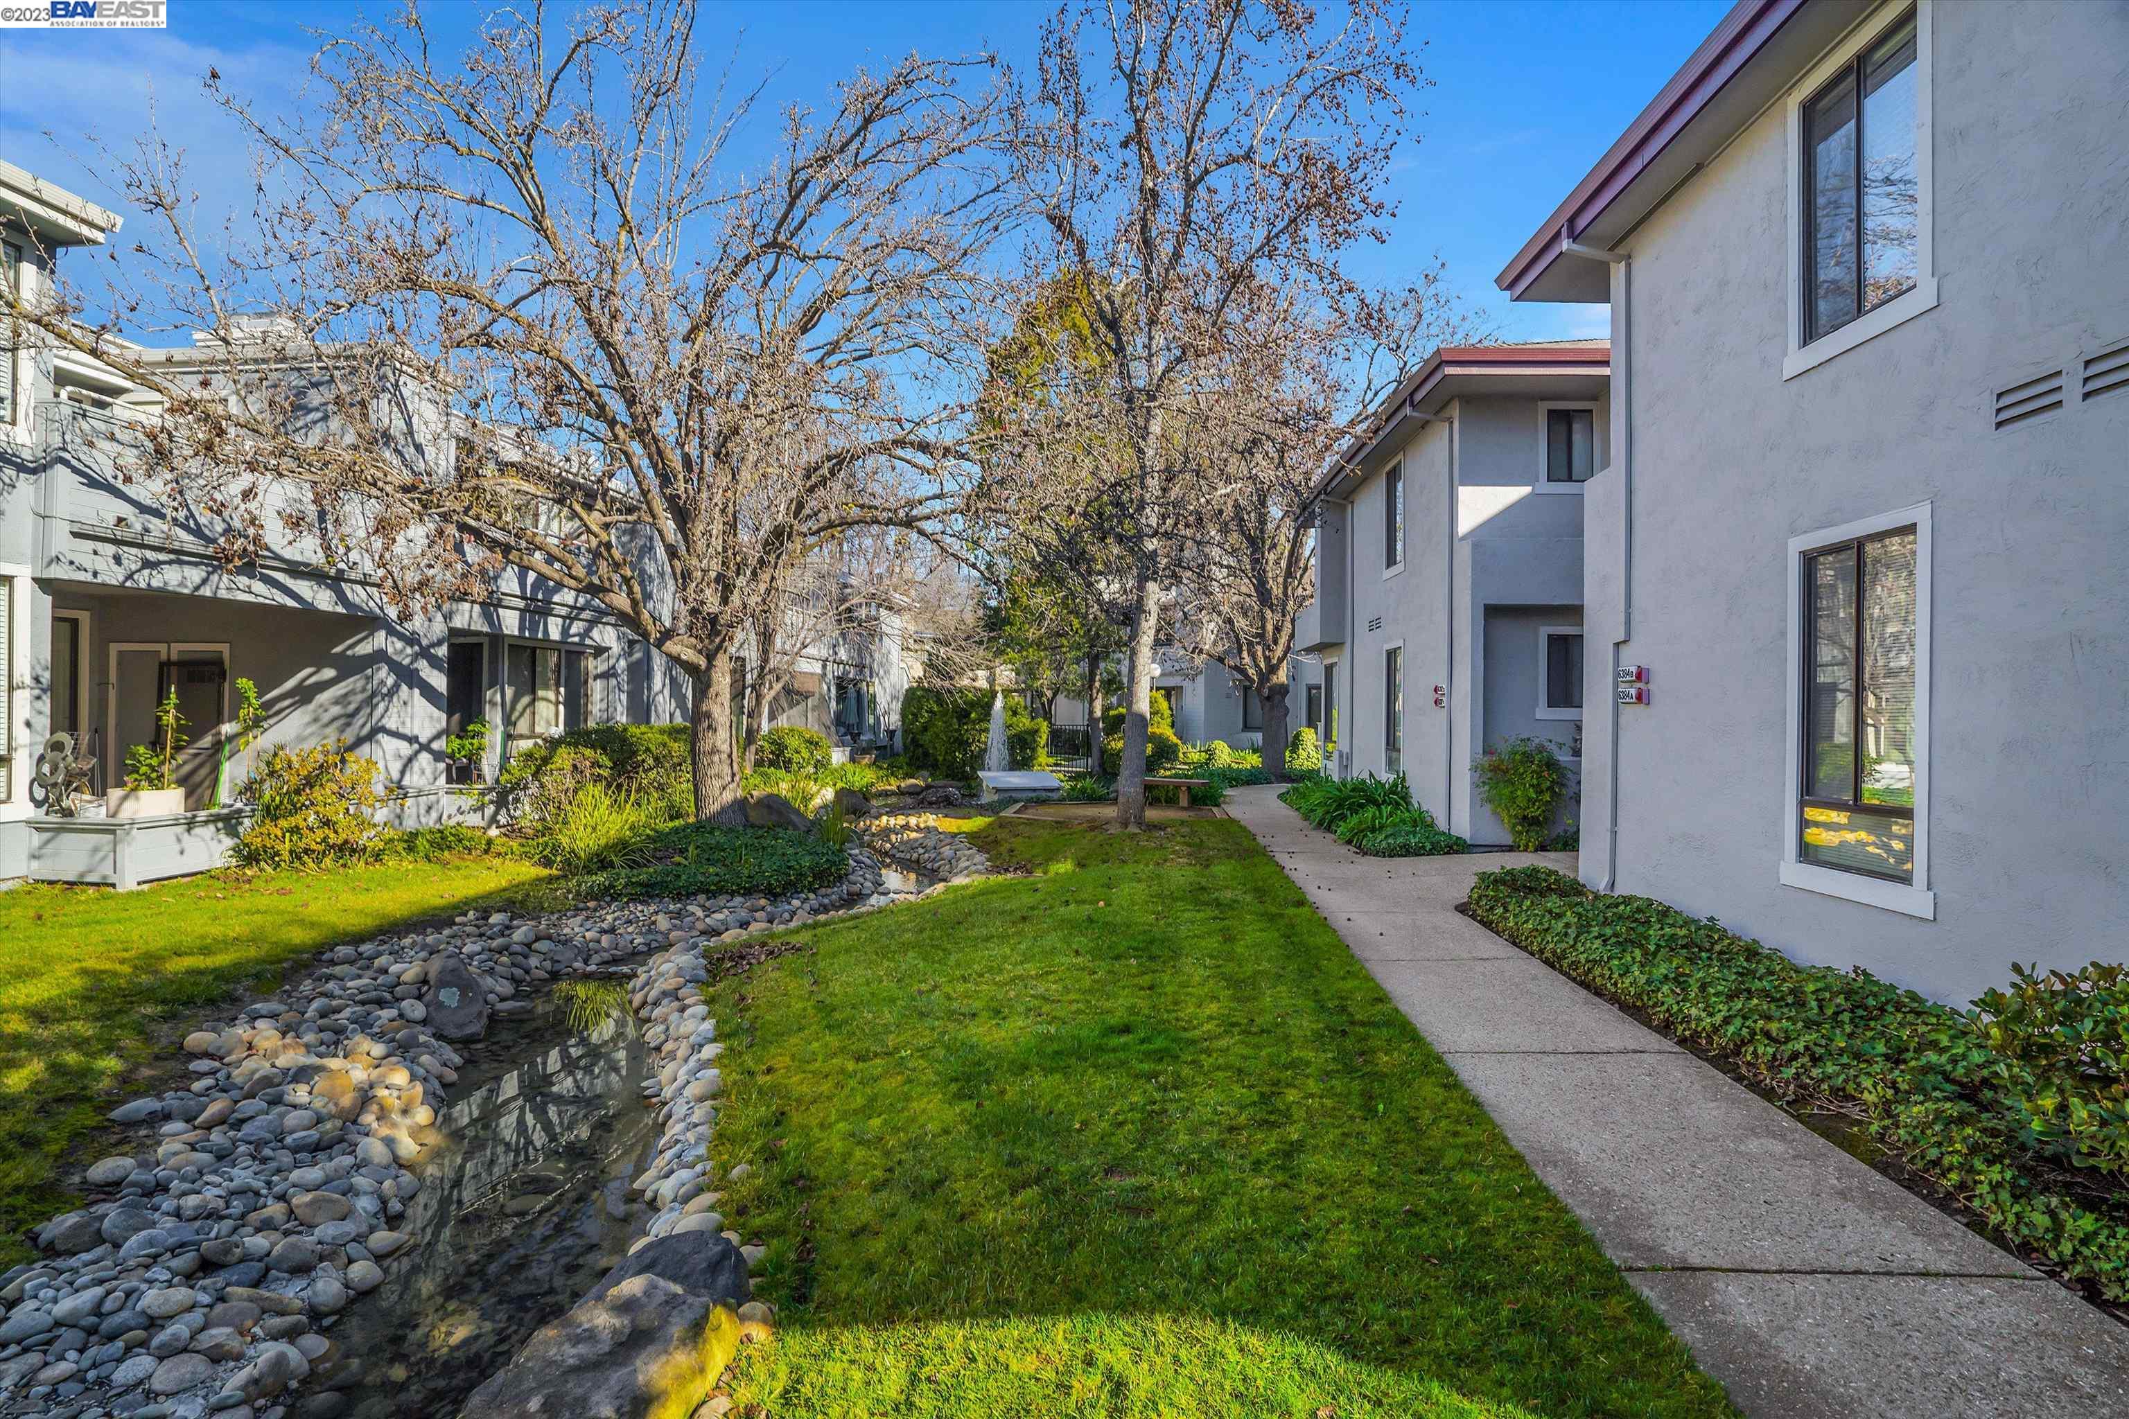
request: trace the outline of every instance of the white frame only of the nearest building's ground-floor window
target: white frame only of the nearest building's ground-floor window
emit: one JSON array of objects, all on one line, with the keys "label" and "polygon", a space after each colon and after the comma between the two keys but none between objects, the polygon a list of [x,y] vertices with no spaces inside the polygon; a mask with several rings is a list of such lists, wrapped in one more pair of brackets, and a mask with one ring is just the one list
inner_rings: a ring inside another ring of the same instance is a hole
[{"label": "white frame only of the nearest building's ground-floor window", "polygon": [[[1914,528],[1914,881],[1891,883],[1861,872],[1822,868],[1797,857],[1797,819],[1803,808],[1803,557],[1820,547],[1852,542],[1895,528]],[[1922,921],[1937,919],[1929,887],[1929,504],[1863,517],[1788,538],[1788,747],[1782,777],[1780,883],[1801,891],[1882,906]]]}]

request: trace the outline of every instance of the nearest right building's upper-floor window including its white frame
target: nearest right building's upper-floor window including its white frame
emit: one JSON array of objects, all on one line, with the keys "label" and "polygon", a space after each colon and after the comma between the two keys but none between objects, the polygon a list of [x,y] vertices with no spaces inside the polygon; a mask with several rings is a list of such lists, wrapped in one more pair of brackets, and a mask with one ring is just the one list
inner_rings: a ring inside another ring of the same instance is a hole
[{"label": "nearest right building's upper-floor window including its white frame", "polygon": [[1937,304],[1931,4],[1859,32],[1790,94],[1790,379]]}]

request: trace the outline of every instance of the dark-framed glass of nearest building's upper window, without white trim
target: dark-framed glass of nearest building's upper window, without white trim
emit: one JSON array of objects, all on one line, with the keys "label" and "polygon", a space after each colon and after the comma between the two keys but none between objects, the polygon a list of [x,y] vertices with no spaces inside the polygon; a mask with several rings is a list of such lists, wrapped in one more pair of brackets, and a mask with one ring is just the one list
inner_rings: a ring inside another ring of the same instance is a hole
[{"label": "dark-framed glass of nearest building's upper window, without white trim", "polygon": [[1803,340],[1914,289],[1920,270],[1910,15],[1803,104]]}]

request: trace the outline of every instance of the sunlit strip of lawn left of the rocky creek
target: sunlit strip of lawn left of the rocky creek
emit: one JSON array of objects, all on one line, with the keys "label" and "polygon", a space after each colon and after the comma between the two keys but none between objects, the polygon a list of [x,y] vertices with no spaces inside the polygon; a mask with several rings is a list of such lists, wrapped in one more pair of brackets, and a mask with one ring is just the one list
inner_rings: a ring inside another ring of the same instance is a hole
[{"label": "sunlit strip of lawn left of the rocky creek", "polygon": [[0,1266],[21,1232],[72,1204],[55,1168],[132,1083],[175,1076],[175,1040],[236,989],[334,940],[537,894],[517,857],[347,872],[196,877],[141,891],[0,891]]}]

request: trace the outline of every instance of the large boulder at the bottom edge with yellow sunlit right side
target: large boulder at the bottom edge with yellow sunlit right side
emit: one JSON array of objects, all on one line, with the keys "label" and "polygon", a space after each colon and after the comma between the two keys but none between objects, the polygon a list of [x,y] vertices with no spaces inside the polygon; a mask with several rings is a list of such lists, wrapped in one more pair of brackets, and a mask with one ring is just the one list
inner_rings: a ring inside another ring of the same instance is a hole
[{"label": "large boulder at the bottom edge with yellow sunlit right side", "polygon": [[688,1413],[730,1364],[747,1296],[747,1264],[730,1240],[662,1236],[537,1330],[460,1419],[643,1419],[660,1404]]}]

